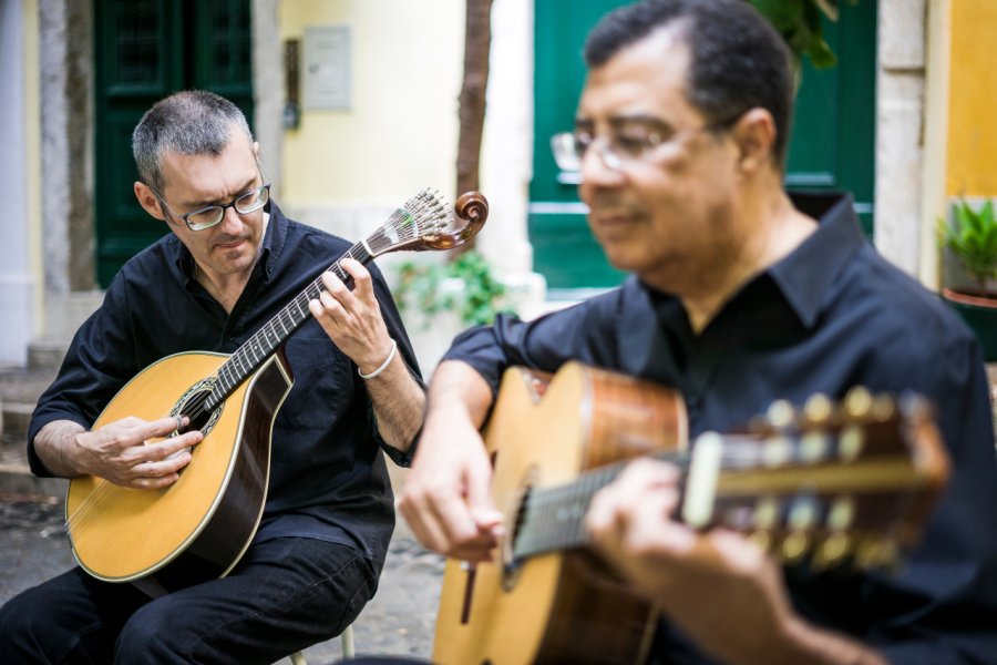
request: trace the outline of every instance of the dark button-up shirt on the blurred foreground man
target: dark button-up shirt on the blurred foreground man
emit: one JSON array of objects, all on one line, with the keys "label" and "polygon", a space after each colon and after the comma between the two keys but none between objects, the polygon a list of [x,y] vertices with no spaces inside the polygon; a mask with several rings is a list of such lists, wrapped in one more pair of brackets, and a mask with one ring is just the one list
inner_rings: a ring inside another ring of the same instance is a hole
[{"label": "dark button-up shirt on the blurred foreground man", "polygon": [[[979,346],[864,241],[851,197],[794,203],[820,219],[818,231],[749,280],[699,335],[678,298],[630,278],[531,323],[502,317],[469,330],[445,358],[471,364],[494,391],[511,365],[555,371],[573,359],[664,383],[685,396],[692,436],[742,427],[774,399],[799,406],[856,385],[929,398],[952,478],[907,564],[896,576],[788,570],[789,590],[805,616],[898,663],[994,662],[997,463]],[[682,662],[674,643],[659,648]]]}]

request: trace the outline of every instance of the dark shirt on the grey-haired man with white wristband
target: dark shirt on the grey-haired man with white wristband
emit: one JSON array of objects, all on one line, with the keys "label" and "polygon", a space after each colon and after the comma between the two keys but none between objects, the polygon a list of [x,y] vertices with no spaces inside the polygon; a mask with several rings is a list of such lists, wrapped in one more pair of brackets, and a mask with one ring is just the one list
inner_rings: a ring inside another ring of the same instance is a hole
[{"label": "dark shirt on the grey-haired man with white wristband", "polygon": [[[71,420],[90,428],[132,377],[166,356],[232,354],[351,246],[288,219],[273,203],[267,209],[260,258],[230,314],[194,279],[193,257],[173,234],[122,267],[39,399],[28,433],[32,471],[50,474],[33,448],[45,423]],[[368,269],[388,332],[421,381],[383,277],[376,266]],[[380,565],[394,525],[380,451],[401,463],[408,456],[383,443],[357,367],[314,318],[285,350],[295,383],[274,423],[269,489],[256,540],[297,535],[340,542]]]}]

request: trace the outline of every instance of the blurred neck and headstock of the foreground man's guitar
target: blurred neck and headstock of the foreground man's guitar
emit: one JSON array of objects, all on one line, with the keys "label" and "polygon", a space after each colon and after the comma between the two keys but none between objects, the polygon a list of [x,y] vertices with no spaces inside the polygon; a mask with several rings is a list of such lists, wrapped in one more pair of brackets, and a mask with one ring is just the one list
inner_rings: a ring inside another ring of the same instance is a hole
[{"label": "blurred neck and headstock of the foreground man's guitar", "polygon": [[[911,396],[888,405],[836,423],[707,432],[689,454],[659,453],[681,472],[677,519],[779,543],[773,554],[789,561],[815,553],[832,563],[854,553],[859,565],[894,562],[927,519],[947,460],[926,402]],[[586,546],[592,498],[625,464],[522,490],[511,529],[514,557]]]}]

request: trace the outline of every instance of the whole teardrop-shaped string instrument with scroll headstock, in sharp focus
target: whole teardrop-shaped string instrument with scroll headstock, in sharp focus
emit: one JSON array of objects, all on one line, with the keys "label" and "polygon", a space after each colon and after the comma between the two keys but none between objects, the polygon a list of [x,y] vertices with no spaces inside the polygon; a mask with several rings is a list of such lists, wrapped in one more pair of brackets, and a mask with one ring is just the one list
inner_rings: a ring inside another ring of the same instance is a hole
[{"label": "whole teardrop-shaped string instrument with scroll headstock, in sharp focus", "polygon": [[[453,209],[423,190],[328,270],[400,249],[451,249],[487,218],[474,192]],[[274,418],[294,382],[284,342],[310,317],[308,301],[325,286],[317,276],[230,356],[168,356],[136,375],[106,406],[94,429],[127,416],[187,416],[204,433],[179,480],[164,490],[135,490],[106,480],[73,479],[65,519],[80,565],[109,582],[132,582],[151,595],[226,574],[248,548],[263,514]],[[176,436],[179,432],[174,432]]]}]

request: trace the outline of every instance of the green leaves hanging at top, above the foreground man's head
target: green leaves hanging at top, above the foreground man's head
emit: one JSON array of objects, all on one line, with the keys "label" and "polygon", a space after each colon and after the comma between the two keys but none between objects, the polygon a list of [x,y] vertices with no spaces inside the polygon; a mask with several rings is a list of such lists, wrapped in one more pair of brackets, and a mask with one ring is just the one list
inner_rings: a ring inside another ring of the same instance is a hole
[{"label": "green leaves hanging at top, above the foreground man's head", "polygon": [[[859,0],[846,0],[855,6]],[[824,41],[821,25],[823,13],[837,21],[837,0],[749,0],[775,31],[785,40],[799,69],[803,57],[809,57],[816,69],[834,66],[837,58]]]}]

